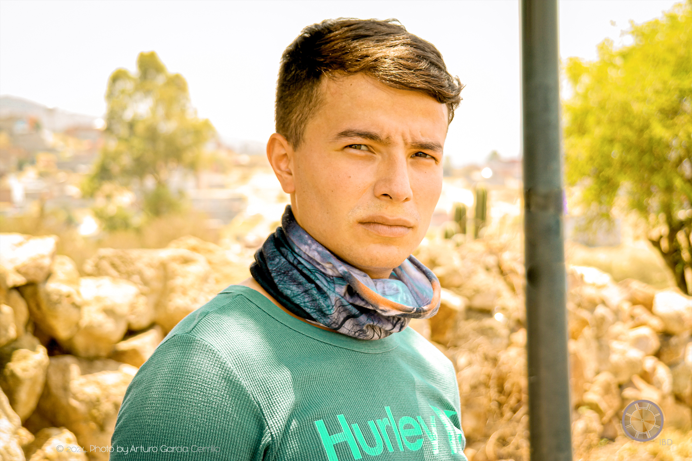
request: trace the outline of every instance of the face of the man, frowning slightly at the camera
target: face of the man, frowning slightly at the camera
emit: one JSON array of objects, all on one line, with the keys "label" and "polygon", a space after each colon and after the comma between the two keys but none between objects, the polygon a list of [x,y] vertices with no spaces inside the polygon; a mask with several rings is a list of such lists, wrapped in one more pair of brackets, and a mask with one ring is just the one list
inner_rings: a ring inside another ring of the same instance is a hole
[{"label": "face of the man, frowning slightly at the camera", "polygon": [[286,147],[290,174],[275,171],[301,227],[347,263],[387,278],[430,225],[448,109],[363,74],[323,78],[320,91],[302,144]]}]

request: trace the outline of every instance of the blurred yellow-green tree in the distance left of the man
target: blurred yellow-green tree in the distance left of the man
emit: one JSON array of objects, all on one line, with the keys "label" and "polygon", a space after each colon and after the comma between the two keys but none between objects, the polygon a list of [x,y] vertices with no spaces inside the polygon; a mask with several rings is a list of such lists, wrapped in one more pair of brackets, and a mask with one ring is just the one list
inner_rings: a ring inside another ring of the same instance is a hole
[{"label": "blurred yellow-green tree in the distance left of the man", "polygon": [[[205,144],[215,135],[209,120],[197,118],[188,83],[169,73],[153,51],[140,53],[136,75],[124,68],[111,74],[106,102],[106,142],[82,191],[108,197],[104,188],[134,188],[143,195],[148,216],[176,211],[181,197],[168,187],[170,173],[180,167],[196,171]],[[95,211],[102,219],[112,214],[115,227],[125,225],[120,205]]]}]

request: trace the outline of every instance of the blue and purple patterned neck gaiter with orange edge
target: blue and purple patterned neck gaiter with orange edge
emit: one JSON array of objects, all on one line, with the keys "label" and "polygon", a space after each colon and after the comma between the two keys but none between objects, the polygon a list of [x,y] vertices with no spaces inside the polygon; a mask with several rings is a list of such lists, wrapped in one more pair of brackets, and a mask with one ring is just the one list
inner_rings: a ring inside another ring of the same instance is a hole
[{"label": "blue and purple patterned neck gaiter with orange edge", "polygon": [[281,227],[255,253],[250,272],[257,283],[302,319],[358,339],[380,339],[410,319],[437,313],[440,285],[415,257],[389,279],[371,279],[341,261],[310,236],[286,206]]}]

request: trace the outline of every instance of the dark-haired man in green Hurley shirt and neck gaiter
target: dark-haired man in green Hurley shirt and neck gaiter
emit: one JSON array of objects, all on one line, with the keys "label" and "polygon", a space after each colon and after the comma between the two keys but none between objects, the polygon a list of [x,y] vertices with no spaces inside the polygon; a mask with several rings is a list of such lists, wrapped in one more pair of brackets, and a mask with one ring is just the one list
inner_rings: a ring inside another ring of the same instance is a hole
[{"label": "dark-haired man in green Hurley shirt and neck gaiter", "polygon": [[323,21],[286,48],[282,227],[140,368],[111,460],[466,460],[454,368],[406,328],[439,307],[410,254],[461,89],[394,21]]}]

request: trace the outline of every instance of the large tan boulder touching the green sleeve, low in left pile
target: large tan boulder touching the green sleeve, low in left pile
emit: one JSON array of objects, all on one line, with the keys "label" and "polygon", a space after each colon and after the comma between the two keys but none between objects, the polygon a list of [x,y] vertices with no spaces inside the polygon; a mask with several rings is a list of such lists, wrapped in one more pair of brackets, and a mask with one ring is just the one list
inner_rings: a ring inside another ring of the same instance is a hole
[{"label": "large tan boulder touching the green sleeve, low in left pile", "polygon": [[[55,426],[64,426],[81,446],[108,446],[122,397],[137,368],[110,359],[51,357],[38,410]],[[108,453],[92,453],[106,461]]]}]

